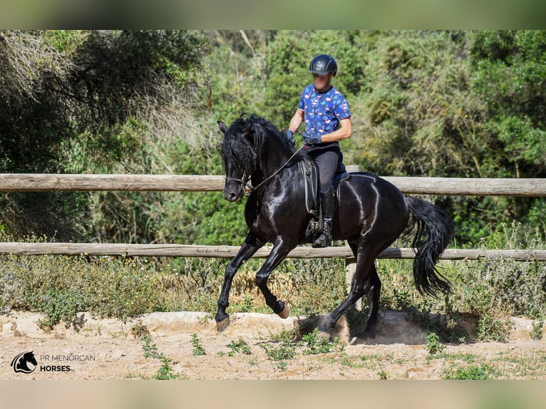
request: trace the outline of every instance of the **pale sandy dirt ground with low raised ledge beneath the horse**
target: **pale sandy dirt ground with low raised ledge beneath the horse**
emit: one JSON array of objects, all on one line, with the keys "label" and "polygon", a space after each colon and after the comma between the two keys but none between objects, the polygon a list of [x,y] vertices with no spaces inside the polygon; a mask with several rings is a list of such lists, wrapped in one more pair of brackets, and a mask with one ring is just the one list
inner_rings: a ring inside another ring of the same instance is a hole
[{"label": "pale sandy dirt ground with low raised ledge beneath the horse", "polygon": [[[172,360],[169,374],[179,379],[546,379],[546,334],[542,341],[530,339],[532,321],[525,319],[513,320],[506,343],[447,345],[431,355],[426,333],[403,313],[382,314],[374,344],[340,343],[316,354],[307,354],[303,345],[279,341],[279,334],[294,329],[294,317],[235,314],[230,328],[220,334],[204,313],[153,313],[127,323],[85,314],[79,331],[58,325],[48,333],[38,328],[39,318],[27,312],[0,316],[0,379],[155,378],[162,363],[145,358],[143,333],[155,351]],[[205,355],[194,355],[193,333]],[[336,335],[347,339],[344,323]],[[228,347],[240,338],[248,350]],[[268,356],[267,349],[283,351],[283,345],[292,348],[292,357]],[[11,361],[25,351],[34,351],[36,368],[16,373]],[[51,371],[51,366],[65,368]]]}]

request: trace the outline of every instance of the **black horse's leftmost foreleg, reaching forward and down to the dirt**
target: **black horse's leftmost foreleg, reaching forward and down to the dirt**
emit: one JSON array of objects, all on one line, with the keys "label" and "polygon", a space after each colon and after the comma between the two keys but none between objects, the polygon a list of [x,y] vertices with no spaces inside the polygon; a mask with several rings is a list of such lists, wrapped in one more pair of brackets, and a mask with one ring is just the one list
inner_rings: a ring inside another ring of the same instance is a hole
[{"label": "black horse's leftmost foreleg, reaching forward and down to the dirt", "polygon": [[231,261],[227,264],[224,274],[224,284],[222,284],[222,292],[218,299],[218,310],[216,312],[216,329],[218,332],[224,331],[230,326],[230,314],[226,313],[227,306],[230,305],[230,289],[233,281],[233,277],[237,270],[245,261],[247,261],[252,255],[258,251],[260,247],[265,244],[264,241],[258,239],[254,234],[247,234],[247,238],[244,239],[239,252]]}]

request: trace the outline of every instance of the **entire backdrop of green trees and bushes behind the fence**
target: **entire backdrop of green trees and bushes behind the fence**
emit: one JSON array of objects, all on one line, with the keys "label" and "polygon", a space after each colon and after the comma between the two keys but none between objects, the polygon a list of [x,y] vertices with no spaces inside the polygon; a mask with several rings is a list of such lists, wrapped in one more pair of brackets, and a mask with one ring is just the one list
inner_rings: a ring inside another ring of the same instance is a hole
[{"label": "entire backdrop of green trees and bushes behind the fence", "polygon": [[[545,31],[1,31],[3,172],[222,172],[216,120],[287,128],[314,54],[339,63],[354,133],[345,161],[381,175],[545,175]],[[198,160],[195,160],[198,158]],[[537,198],[438,197],[458,242]],[[215,193],[24,193],[0,222],[118,242],[240,244],[241,203]]]}]

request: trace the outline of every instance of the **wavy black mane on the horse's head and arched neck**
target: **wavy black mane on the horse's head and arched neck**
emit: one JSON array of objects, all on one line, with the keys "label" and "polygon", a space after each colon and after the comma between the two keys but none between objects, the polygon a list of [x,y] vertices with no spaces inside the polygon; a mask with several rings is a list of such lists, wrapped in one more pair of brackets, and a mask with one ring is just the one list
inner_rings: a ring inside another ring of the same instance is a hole
[{"label": "wavy black mane on the horse's head and arched neck", "polygon": [[237,172],[252,175],[256,156],[262,152],[267,138],[276,138],[289,155],[294,153],[294,145],[271,122],[255,114],[239,116],[224,136],[221,152],[224,167],[229,161]]}]

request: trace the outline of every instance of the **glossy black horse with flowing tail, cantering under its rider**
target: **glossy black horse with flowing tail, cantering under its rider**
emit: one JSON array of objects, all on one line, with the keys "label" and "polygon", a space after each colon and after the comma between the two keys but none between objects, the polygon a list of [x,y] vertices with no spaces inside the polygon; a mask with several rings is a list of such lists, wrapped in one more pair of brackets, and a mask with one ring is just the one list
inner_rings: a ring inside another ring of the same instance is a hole
[{"label": "glossy black horse with flowing tail, cantering under its rider", "polygon": [[[218,125],[224,133],[225,199],[235,202],[242,198],[245,187],[251,190],[244,208],[249,233],[237,255],[227,264],[218,300],[217,330],[224,331],[230,325],[226,308],[232,279],[239,266],[267,242],[273,248],[256,274],[256,284],[275,314],[284,319],[289,316],[289,305],[272,294],[267,278],[294,247],[311,242],[312,237],[307,229],[311,216],[304,204],[303,175],[297,165],[302,160],[300,152],[272,123],[256,115],[242,116],[229,128],[221,121]],[[252,188],[249,182],[257,188]],[[338,192],[332,237],[347,240],[356,257],[356,273],[347,298],[319,326],[325,336],[346,309],[366,293],[369,319],[359,338],[375,335],[381,281],[374,260],[400,236],[408,225],[410,213],[417,220],[413,240],[417,289],[432,296],[450,291],[448,281],[435,267],[451,235],[449,219],[443,210],[423,200],[404,197],[391,183],[366,172],[351,172],[340,183]]]}]

